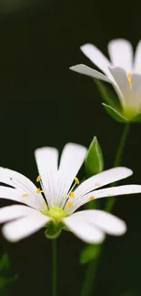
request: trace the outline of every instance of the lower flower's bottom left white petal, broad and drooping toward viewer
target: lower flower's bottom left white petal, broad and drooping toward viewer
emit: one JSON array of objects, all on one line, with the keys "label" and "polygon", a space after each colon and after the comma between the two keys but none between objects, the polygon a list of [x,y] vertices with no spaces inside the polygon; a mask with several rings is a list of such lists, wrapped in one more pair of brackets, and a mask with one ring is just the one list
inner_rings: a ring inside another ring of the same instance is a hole
[{"label": "lower flower's bottom left white petal, broad and drooping toward viewer", "polygon": [[36,212],[30,216],[6,223],[2,232],[6,240],[15,242],[25,239],[37,230],[40,230],[49,220],[51,220],[49,217],[46,217],[40,212]]}]

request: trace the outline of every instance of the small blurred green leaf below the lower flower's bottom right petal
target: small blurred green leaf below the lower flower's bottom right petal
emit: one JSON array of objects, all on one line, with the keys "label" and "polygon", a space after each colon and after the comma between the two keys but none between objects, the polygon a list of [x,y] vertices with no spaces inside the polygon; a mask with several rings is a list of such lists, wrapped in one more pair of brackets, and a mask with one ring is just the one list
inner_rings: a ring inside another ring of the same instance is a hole
[{"label": "small blurred green leaf below the lower flower's bottom right petal", "polygon": [[82,250],[80,254],[80,263],[86,264],[91,260],[95,260],[99,255],[101,246],[100,245],[88,245]]}]

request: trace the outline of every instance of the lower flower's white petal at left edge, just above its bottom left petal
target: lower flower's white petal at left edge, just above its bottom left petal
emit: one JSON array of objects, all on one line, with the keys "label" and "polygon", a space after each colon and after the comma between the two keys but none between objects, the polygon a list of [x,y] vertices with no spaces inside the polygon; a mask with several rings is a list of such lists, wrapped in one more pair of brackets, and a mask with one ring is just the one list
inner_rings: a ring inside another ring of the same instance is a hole
[{"label": "lower flower's white petal at left edge, just above its bottom left petal", "polygon": [[8,206],[0,209],[0,223],[5,223],[11,219],[17,219],[25,216],[29,216],[36,212],[35,209],[31,209],[26,206]]}]

